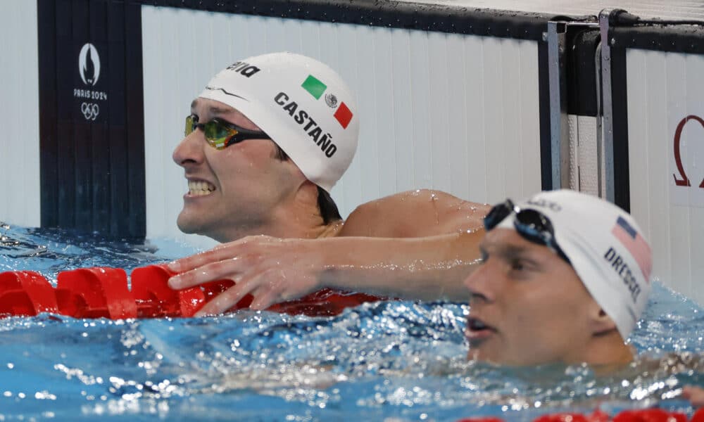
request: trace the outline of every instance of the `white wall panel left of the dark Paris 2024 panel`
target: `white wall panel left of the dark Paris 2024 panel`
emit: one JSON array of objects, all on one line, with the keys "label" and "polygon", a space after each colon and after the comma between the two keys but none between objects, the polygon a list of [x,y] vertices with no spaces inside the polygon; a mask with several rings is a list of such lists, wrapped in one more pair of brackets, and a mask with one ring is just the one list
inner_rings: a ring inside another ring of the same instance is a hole
[{"label": "white wall panel left of the dark Paris 2024 panel", "polygon": [[0,0],[0,8],[0,222],[39,226],[37,2]]}]

